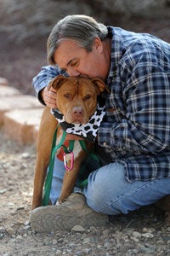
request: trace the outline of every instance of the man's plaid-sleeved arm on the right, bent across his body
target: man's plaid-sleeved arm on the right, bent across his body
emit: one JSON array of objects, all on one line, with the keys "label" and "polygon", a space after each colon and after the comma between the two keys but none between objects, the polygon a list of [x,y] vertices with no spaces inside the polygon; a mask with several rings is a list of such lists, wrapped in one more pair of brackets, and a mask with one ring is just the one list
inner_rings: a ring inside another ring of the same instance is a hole
[{"label": "man's plaid-sleeved arm on the right, bent across his body", "polygon": [[[126,148],[145,153],[157,153],[167,148],[170,133],[169,79],[169,74],[160,67],[143,65],[136,68],[124,85],[126,110],[120,120],[114,119],[116,113],[108,113],[109,122],[106,119],[99,127],[99,145],[112,150]],[[118,111],[117,108],[117,114]]]}]

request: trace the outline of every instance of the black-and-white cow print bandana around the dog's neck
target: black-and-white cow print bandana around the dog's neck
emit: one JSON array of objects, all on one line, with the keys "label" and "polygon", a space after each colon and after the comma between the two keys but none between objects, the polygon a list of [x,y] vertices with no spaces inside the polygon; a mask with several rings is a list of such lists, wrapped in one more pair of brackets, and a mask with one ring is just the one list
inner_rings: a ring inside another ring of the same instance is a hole
[{"label": "black-and-white cow print bandana around the dog's neck", "polygon": [[57,108],[52,108],[51,113],[54,114],[55,119],[58,120],[59,125],[66,133],[71,133],[80,136],[90,142],[94,142],[99,130],[99,125],[105,116],[105,106],[100,107],[98,104],[97,109],[89,119],[88,124],[85,125],[69,124],[65,122],[64,115],[60,113]]}]

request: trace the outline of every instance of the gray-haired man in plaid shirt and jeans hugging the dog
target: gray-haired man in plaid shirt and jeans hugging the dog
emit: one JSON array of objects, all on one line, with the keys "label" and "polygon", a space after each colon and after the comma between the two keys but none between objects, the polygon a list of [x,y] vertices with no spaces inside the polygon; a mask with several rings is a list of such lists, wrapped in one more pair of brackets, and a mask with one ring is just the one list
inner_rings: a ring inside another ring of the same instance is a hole
[{"label": "gray-haired man in plaid shirt and jeans hugging the dog", "polygon": [[[33,84],[39,100],[50,108],[57,108],[55,91],[46,90],[54,76],[105,80],[110,94],[104,96],[105,119],[96,144],[106,165],[92,172],[87,187],[75,188],[79,194],[73,193],[62,205],[32,211],[31,221],[38,218],[35,229],[41,224],[46,230],[45,216],[51,216],[55,229],[70,216],[71,228],[80,212],[82,225],[88,224],[92,212],[91,224],[99,224],[97,212],[127,213],[169,195],[170,44],[149,34],[106,27],[86,15],[68,15],[49,35],[48,61],[52,66],[42,67]],[[55,172],[57,168],[61,171]],[[63,163],[55,160],[53,204],[64,172]],[[54,216],[61,212],[64,220],[57,225]]]}]

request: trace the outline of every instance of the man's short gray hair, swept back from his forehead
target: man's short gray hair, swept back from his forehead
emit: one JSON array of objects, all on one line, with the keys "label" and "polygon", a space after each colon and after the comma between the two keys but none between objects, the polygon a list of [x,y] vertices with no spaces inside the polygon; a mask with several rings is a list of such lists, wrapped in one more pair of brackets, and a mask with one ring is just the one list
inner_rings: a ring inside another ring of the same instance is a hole
[{"label": "man's short gray hair, swept back from his forehead", "polygon": [[98,23],[94,18],[87,15],[68,15],[54,26],[49,34],[47,52],[48,62],[51,65],[54,61],[54,51],[64,39],[76,41],[82,48],[92,51],[95,38],[101,41],[107,38],[107,27]]}]

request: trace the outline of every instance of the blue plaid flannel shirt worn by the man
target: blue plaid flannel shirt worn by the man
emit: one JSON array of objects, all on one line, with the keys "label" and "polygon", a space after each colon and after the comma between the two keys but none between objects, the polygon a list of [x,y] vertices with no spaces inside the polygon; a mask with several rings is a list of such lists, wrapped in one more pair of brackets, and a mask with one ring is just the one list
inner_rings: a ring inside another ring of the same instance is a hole
[{"label": "blue plaid flannel shirt worn by the man", "polygon": [[[124,166],[129,182],[170,177],[170,44],[118,27],[108,32],[111,93],[105,94],[99,146]],[[42,67],[33,79],[37,95],[59,73]]]}]

